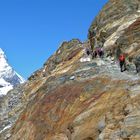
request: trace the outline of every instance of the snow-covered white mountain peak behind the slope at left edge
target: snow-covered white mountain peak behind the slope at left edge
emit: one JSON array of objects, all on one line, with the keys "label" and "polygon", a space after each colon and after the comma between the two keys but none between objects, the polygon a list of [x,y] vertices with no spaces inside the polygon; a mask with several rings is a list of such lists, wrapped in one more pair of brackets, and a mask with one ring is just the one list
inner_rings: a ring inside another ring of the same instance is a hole
[{"label": "snow-covered white mountain peak behind the slope at left edge", "polygon": [[0,48],[0,96],[25,80],[8,64],[4,51]]}]

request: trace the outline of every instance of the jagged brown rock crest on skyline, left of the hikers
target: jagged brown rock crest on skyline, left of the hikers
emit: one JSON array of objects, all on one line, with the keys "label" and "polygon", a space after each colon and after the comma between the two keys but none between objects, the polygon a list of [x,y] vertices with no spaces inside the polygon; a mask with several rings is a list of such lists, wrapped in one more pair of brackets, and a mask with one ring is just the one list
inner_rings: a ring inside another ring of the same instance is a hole
[{"label": "jagged brown rock crest on skyline, left of the hikers", "polygon": [[44,64],[44,67],[36,71],[29,80],[34,80],[36,77],[46,77],[53,73],[53,70],[59,65],[63,65],[68,60],[76,56],[81,50],[82,43],[78,39],[73,39],[69,42],[63,42],[60,48],[52,55]]}]

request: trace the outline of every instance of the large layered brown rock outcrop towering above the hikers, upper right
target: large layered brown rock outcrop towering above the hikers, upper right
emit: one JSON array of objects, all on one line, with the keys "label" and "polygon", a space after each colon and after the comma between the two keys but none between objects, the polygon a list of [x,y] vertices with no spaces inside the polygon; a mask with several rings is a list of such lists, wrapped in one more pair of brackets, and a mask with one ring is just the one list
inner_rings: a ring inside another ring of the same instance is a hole
[{"label": "large layered brown rock outcrop towering above the hikers, upper right", "polygon": [[105,32],[105,49],[117,49],[120,46],[128,58],[135,59],[139,53],[134,52],[140,45],[139,19],[139,0],[110,0],[93,21],[89,31],[92,33],[96,29],[98,38],[102,38]]}]

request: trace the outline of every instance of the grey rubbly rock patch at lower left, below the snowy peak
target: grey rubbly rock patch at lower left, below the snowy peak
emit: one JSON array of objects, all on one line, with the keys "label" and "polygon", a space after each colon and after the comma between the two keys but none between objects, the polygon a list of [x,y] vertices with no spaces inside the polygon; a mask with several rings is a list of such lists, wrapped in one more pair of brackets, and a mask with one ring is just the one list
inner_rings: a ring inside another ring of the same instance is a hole
[{"label": "grey rubbly rock patch at lower left, below the snowy peak", "polygon": [[24,104],[21,101],[23,98],[22,86],[16,87],[0,98],[0,139],[3,138],[2,134],[13,125],[20,114],[21,104]]}]

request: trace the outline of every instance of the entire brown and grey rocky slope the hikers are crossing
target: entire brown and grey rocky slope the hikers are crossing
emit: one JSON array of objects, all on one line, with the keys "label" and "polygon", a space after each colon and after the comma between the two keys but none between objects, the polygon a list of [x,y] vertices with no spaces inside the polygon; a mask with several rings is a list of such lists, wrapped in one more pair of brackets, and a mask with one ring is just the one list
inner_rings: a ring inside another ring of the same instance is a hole
[{"label": "entire brown and grey rocky slope the hikers are crossing", "polygon": [[[0,139],[139,140],[140,76],[134,66],[140,51],[139,4],[110,0],[89,29],[89,40],[104,40],[114,59],[92,60],[85,54],[88,41],[73,39],[9,92]],[[115,59],[118,48],[127,56],[123,73]]]}]

